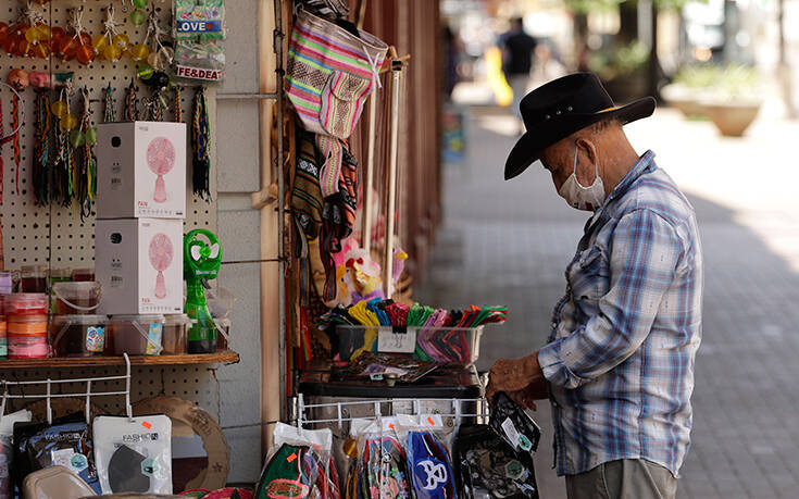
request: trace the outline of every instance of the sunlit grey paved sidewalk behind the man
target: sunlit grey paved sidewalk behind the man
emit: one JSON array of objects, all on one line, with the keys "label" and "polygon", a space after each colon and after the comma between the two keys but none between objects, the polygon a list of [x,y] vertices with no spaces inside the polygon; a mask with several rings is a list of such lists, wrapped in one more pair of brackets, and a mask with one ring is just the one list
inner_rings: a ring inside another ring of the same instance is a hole
[{"label": "sunlit grey paved sidewalk behind the man", "polygon": [[[507,304],[479,367],[540,347],[586,214],[571,210],[538,164],[501,176],[515,140],[501,111],[471,111],[469,161],[445,171],[445,222],[420,301]],[[799,126],[758,123],[720,139],[670,110],[628,126],[694,203],[706,261],[704,338],[697,358],[692,447],[681,498],[799,497]],[[546,402],[536,473],[542,498],[565,497],[551,470]]]}]

